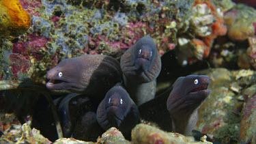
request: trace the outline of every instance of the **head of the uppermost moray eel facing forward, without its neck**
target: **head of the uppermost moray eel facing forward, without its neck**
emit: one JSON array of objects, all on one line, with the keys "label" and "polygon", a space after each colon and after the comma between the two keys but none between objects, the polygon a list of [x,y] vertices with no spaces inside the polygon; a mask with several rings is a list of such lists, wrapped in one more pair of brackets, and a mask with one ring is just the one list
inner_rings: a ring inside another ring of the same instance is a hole
[{"label": "head of the uppermost moray eel facing forward, without its neck", "polygon": [[124,75],[139,83],[153,81],[161,70],[161,59],[150,35],[145,35],[121,57]]}]

